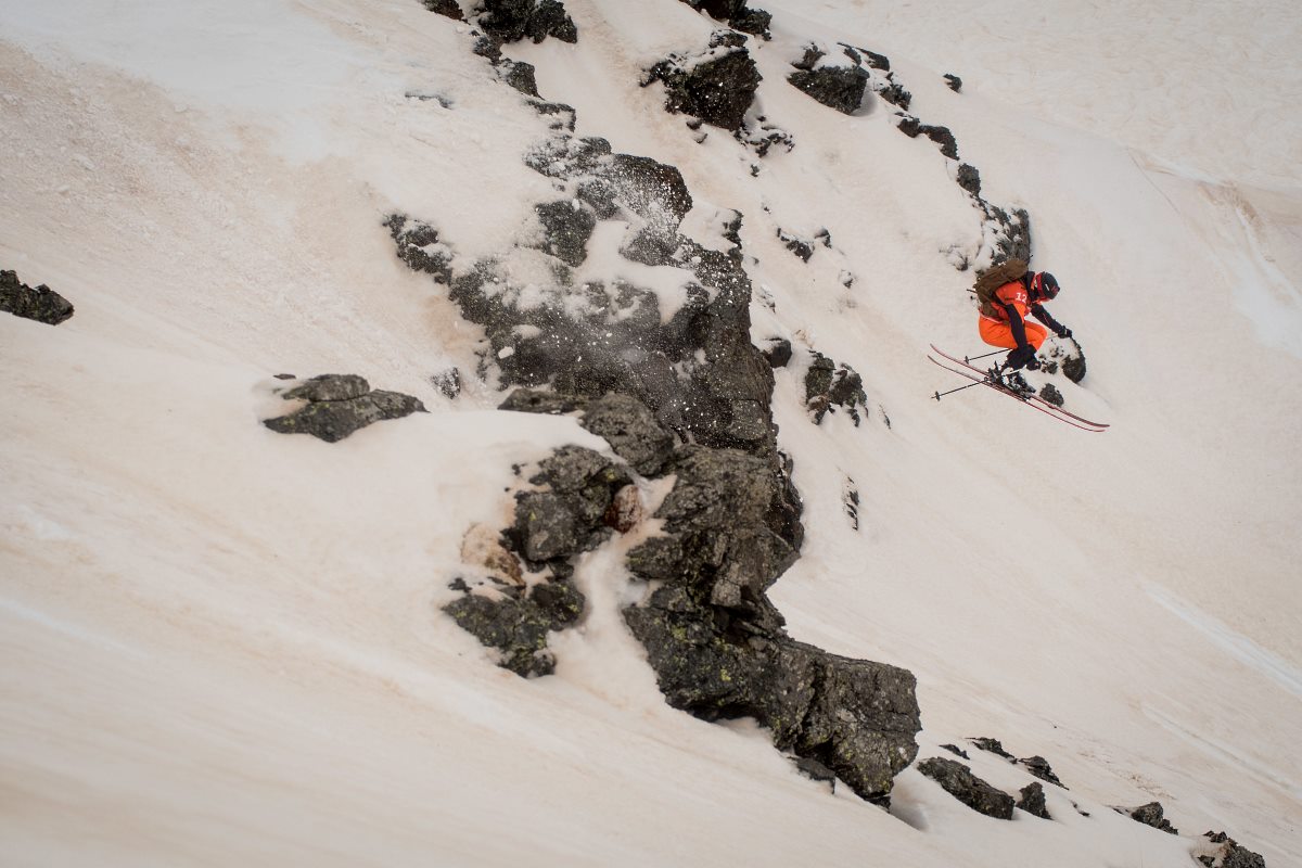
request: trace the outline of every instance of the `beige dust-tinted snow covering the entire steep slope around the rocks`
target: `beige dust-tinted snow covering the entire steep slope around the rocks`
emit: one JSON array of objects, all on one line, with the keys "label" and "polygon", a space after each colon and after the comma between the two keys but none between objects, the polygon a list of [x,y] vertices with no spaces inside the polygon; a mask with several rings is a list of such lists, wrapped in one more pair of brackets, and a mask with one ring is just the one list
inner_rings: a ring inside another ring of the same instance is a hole
[{"label": "beige dust-tinted snow covering the entire steep slope around the rocks", "polygon": [[[756,111],[797,141],[763,161],[638,87],[716,26],[676,0],[568,0],[577,46],[506,53],[579,134],[680,167],[686,225],[745,215],[753,334],[797,351],[773,397],[806,506],[771,591],[792,634],[914,671],[919,757],[958,743],[1010,793],[1030,776],[966,737],[1047,757],[1055,819],[990,820],[914,769],[887,812],[754,724],[671,709],[618,617],[633,539],[583,560],[555,677],[499,669],[440,613],[467,528],[509,521],[512,465],[604,449],[495,410],[491,383],[428,381],[473,372],[482,333],[384,216],[474,258],[556,198],[521,163],[546,120],[466,25],[415,0],[0,0],[0,267],[77,306],[0,316],[0,861],[1177,867],[1224,829],[1302,864],[1299,13],[1147,4],[1141,52],[1122,4],[1039,4],[1027,38],[1060,47],[1019,53],[954,36],[1017,33],[1010,0],[760,5]],[[1062,388],[1107,433],[930,400],[957,383],[928,342],[982,349],[947,260],[978,213],[889,105],[849,117],[783,81],[810,39],[888,53],[984,195],[1030,210],[1088,359]],[[801,263],[779,228],[835,249]],[[612,260],[591,268],[637,278]],[[811,424],[811,350],[863,375],[863,426]],[[281,372],[430,413],[281,436],[258,424]],[[1154,799],[1181,835],[1108,807]]]}]

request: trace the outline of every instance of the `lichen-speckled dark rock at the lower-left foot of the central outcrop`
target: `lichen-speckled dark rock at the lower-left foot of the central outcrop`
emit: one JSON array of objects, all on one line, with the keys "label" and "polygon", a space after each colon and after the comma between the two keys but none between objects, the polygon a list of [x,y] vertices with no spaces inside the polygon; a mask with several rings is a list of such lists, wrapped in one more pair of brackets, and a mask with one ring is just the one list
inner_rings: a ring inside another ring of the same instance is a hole
[{"label": "lichen-speckled dark rock at the lower-left foot of the central outcrop", "polygon": [[474,593],[464,580],[460,587],[465,593],[443,610],[484,645],[501,651],[504,669],[525,678],[555,670],[547,634],[573,626],[583,614],[583,595],[565,580],[538,583],[525,597],[505,592],[503,584],[497,588],[505,593],[499,597]]}]

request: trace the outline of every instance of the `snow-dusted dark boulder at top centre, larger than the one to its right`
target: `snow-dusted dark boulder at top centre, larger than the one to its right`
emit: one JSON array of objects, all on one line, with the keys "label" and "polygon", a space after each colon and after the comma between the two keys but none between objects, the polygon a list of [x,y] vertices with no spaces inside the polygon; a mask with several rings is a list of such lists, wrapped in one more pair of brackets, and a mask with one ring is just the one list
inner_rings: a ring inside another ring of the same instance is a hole
[{"label": "snow-dusted dark boulder at top centre, larger than the one to its right", "polygon": [[681,59],[663,60],[647,72],[642,85],[664,83],[667,112],[694,115],[737,131],[763,77],[745,48],[720,47],[710,53],[710,60],[690,64]]}]

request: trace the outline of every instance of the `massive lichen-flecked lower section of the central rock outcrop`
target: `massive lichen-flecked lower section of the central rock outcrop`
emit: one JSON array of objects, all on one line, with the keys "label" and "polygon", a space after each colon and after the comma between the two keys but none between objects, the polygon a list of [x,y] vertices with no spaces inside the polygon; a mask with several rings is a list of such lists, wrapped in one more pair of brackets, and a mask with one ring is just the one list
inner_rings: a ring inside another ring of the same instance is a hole
[{"label": "massive lichen-flecked lower section of the central rock outcrop", "polygon": [[[798,643],[766,591],[797,550],[775,505],[783,480],[737,450],[681,449],[656,518],[665,535],[629,553],[638,578],[663,582],[625,610],[669,704],[699,717],[755,717],[773,743],[881,798],[917,755],[914,678]],[[798,541],[797,541],[798,544]]]}]

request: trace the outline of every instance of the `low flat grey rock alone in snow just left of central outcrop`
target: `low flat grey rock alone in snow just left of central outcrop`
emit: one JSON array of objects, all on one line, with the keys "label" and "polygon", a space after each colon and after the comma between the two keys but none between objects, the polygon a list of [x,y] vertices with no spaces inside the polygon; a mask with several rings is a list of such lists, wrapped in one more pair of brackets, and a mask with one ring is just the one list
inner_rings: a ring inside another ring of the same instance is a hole
[{"label": "low flat grey rock alone in snow just left of central outcrop", "polygon": [[263,424],[279,433],[307,433],[326,442],[336,442],[384,419],[426,413],[419,400],[372,390],[366,380],[352,373],[324,373],[280,392],[280,397],[307,403],[284,416],[264,419]]}]

